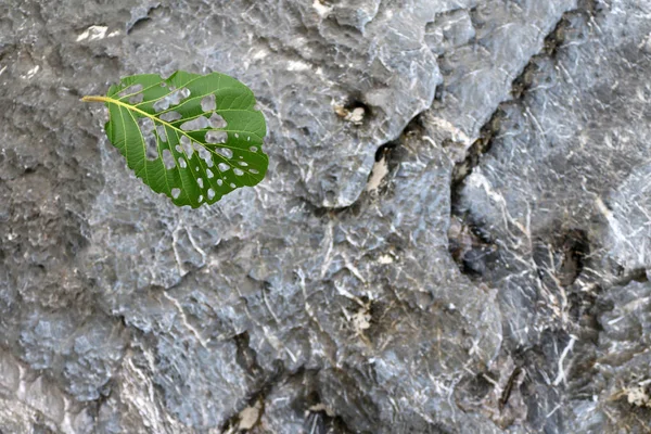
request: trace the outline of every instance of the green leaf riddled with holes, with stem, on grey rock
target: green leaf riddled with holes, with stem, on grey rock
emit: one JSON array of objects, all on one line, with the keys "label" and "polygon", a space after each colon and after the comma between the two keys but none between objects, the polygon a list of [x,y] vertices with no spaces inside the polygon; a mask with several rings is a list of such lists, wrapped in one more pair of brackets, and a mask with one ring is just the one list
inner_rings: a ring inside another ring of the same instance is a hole
[{"label": "green leaf riddled with holes, with stem, on grey rock", "polygon": [[251,89],[224,74],[125,77],[104,102],[108,140],[138,178],[175,205],[215,203],[267,171],[267,132]]}]

